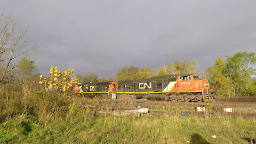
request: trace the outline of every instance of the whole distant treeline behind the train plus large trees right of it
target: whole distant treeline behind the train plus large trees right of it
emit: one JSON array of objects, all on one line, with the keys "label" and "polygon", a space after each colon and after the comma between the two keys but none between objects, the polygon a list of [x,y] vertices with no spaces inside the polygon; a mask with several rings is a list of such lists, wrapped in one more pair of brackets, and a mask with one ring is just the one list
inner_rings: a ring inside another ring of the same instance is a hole
[{"label": "whole distant treeline behind the train plus large trees right of it", "polygon": [[[256,57],[255,53],[238,52],[232,57],[215,59],[215,65],[204,71],[202,78],[207,78],[214,85],[219,96],[235,97],[241,95],[256,95]],[[77,75],[81,83],[122,81],[129,79],[149,78],[153,76],[181,75],[198,73],[198,61],[175,60],[159,69],[151,67],[123,67],[116,77],[99,78],[96,73]]]}]

